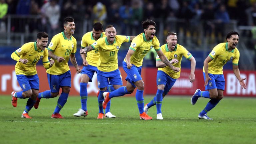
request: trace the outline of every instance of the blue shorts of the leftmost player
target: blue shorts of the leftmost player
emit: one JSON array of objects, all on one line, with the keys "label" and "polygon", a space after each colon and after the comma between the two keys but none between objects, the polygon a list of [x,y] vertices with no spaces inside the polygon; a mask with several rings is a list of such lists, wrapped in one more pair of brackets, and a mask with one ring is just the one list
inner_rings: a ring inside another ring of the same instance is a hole
[{"label": "blue shorts of the leftmost player", "polygon": [[28,91],[31,88],[39,90],[39,77],[37,74],[35,75],[18,74],[16,75],[16,77],[23,91]]}]

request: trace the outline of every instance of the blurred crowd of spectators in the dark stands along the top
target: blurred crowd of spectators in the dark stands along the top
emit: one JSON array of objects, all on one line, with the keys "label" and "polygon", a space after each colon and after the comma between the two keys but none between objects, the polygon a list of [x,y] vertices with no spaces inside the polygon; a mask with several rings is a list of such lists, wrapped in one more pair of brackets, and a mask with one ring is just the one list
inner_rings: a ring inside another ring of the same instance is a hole
[{"label": "blurred crowd of spectators in the dark stands along the top", "polygon": [[[256,25],[256,0],[0,0],[0,21],[8,14],[38,15],[40,19],[12,19],[11,31],[45,31],[54,35],[63,28],[62,20],[71,16],[77,27],[84,20],[118,26],[119,34],[142,32],[146,18],[164,25],[164,33],[175,31],[190,36],[197,45],[200,38],[214,36],[223,42],[225,26],[236,20],[238,26]],[[24,25],[23,25],[24,24]],[[179,35],[180,33],[180,35]],[[256,38],[256,31],[243,33]],[[199,36],[201,35],[201,37]],[[186,43],[186,41],[184,41]]]}]

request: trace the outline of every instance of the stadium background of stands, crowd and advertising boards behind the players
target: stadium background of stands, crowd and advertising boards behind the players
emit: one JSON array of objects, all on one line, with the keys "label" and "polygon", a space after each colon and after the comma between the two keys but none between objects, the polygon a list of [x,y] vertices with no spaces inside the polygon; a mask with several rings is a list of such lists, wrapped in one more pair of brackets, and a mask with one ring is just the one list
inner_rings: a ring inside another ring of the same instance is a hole
[{"label": "stadium background of stands, crowd and advertising boards behind the players", "polygon": [[[6,9],[7,7],[7,9]],[[92,30],[92,24],[100,21],[104,27],[112,24],[119,35],[138,35],[143,32],[141,21],[150,18],[157,23],[156,36],[163,45],[168,31],[177,32],[178,43],[183,45],[196,59],[196,81],[189,83],[190,62],[182,60],[181,77],[170,95],[192,95],[196,88],[204,89],[203,61],[212,48],[225,42],[229,31],[240,33],[237,48],[240,51],[239,69],[241,77],[246,77],[247,89],[242,90],[232,71],[232,63],[224,66],[226,79],[225,96],[256,96],[256,4],[255,0],[1,0],[0,1],[0,94],[20,91],[14,66],[10,58],[12,52],[27,42],[35,41],[39,31],[46,31],[49,39],[63,31],[62,20],[74,17],[77,48],[83,34]],[[6,13],[5,13],[6,12]],[[50,41],[50,40],[49,40]],[[118,53],[118,63],[125,85],[126,74],[123,61],[130,43],[123,44]],[[142,77],[145,94],[156,93],[155,52],[144,58]],[[82,68],[80,54],[76,54]],[[79,95],[79,78],[72,64],[71,95]],[[40,90],[49,89],[45,69],[39,62],[37,71]],[[89,95],[95,95],[97,82],[88,84]]]}]

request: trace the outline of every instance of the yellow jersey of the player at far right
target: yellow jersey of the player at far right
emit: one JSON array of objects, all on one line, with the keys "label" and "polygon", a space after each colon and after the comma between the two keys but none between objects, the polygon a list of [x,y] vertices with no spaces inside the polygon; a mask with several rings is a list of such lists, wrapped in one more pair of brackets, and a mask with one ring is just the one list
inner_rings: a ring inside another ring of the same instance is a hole
[{"label": "yellow jersey of the player at far right", "polygon": [[[223,66],[232,60],[233,65],[238,65],[240,53],[237,48],[232,51],[228,51],[228,43],[220,43],[215,46],[212,52],[209,54],[213,60],[209,63],[208,73],[211,74],[223,74]],[[203,68],[203,72],[204,68]]]}]

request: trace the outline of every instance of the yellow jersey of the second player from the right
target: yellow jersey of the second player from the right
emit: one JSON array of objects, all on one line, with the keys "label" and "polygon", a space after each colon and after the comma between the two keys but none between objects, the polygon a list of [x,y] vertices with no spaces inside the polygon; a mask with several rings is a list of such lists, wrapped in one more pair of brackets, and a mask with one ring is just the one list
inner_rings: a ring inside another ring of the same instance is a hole
[{"label": "yellow jersey of the second player from the right", "polygon": [[[167,57],[169,61],[171,61],[172,59],[177,59],[179,61],[179,63],[173,64],[173,66],[177,68],[180,68],[182,56],[184,56],[188,60],[192,57],[188,50],[179,44],[176,44],[173,51],[169,51],[167,44],[162,45],[161,50],[163,51],[164,55]],[[159,56],[156,56],[156,61],[161,61]],[[176,73],[168,66],[164,68],[158,68],[158,71],[163,71],[174,79],[180,77],[180,71]]]}]

